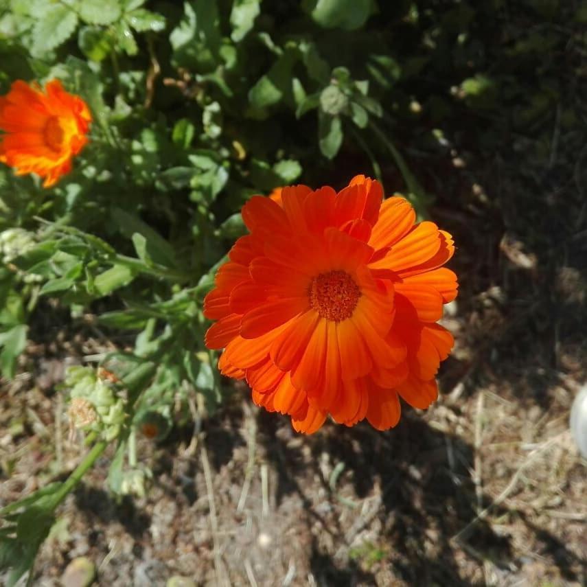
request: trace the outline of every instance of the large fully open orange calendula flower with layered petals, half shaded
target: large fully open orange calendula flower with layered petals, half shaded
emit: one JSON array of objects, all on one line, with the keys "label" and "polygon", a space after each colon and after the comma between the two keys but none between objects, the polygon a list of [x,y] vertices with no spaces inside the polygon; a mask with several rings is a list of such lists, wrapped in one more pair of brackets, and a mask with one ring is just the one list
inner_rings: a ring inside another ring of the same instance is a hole
[{"label": "large fully open orange calendula flower with layered petals, half shaded", "polygon": [[400,401],[427,408],[453,339],[436,322],[457,296],[442,265],[454,246],[411,205],[382,201],[377,181],[357,176],[341,192],[304,185],[281,201],[253,196],[242,209],[251,232],[216,275],[206,334],[225,349],[223,374],[246,379],[253,401],[289,414],[313,433],[327,415],[385,430]]}]

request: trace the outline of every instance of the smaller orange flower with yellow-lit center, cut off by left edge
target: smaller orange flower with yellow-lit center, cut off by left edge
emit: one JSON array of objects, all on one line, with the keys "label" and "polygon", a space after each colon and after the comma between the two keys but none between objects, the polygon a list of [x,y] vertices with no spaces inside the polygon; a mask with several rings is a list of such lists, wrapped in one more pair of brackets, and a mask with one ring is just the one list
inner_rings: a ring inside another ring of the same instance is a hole
[{"label": "smaller orange flower with yellow-lit center, cut off by left edge", "polygon": [[45,85],[18,80],[0,97],[0,161],[17,175],[36,173],[51,187],[71,171],[71,157],[87,143],[92,120],[87,104],[59,80]]}]

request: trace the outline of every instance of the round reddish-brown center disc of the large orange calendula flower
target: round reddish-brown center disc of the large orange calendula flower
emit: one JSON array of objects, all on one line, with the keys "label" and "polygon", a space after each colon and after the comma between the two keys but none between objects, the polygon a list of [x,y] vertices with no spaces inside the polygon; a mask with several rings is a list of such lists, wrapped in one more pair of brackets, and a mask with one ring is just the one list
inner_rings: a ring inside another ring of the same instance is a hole
[{"label": "round reddish-brown center disc of the large orange calendula flower", "polygon": [[345,271],[321,273],[310,284],[310,306],[321,318],[341,322],[350,318],[360,298],[360,289]]}]

